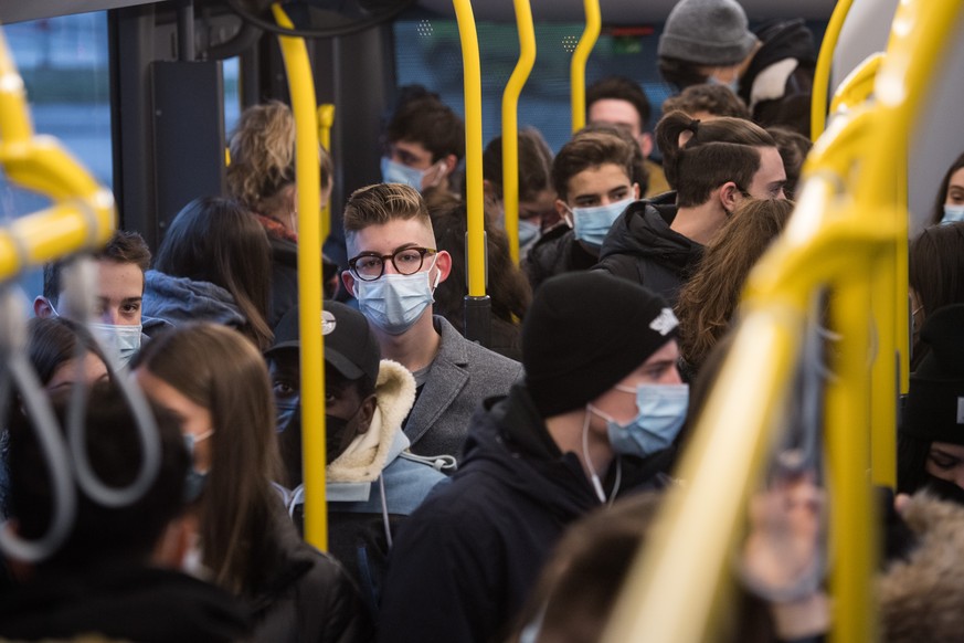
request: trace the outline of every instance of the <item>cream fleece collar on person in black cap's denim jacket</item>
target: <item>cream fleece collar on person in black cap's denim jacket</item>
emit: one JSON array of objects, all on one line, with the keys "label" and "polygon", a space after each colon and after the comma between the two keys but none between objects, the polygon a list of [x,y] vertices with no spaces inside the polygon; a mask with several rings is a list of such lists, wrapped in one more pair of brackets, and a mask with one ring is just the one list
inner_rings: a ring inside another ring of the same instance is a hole
[{"label": "cream fleece collar on person in black cap's denim jacket", "polygon": [[385,466],[409,449],[402,422],[415,403],[415,378],[399,362],[383,359],[379,363],[375,396],[378,405],[371,426],[328,465],[330,482],[373,482]]}]

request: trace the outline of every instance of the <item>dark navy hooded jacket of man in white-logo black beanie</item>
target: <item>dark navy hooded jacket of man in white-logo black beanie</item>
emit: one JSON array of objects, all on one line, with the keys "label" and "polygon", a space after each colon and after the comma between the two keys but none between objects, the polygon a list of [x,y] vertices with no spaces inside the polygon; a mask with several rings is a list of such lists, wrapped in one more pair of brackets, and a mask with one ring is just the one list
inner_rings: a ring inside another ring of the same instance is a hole
[{"label": "dark navy hooded jacket of man in white-logo black beanie", "polygon": [[399,533],[380,640],[498,640],[565,527],[598,505],[523,386],[487,400],[458,472]]}]

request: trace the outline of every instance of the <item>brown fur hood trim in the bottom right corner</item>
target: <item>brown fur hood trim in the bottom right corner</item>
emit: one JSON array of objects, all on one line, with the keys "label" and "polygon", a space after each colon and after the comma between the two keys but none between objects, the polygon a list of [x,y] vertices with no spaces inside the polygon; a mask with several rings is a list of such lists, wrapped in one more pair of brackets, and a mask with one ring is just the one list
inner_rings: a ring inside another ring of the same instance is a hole
[{"label": "brown fur hood trim in the bottom right corner", "polygon": [[881,641],[943,643],[964,637],[964,506],[915,494],[902,513],[918,538],[878,582]]}]

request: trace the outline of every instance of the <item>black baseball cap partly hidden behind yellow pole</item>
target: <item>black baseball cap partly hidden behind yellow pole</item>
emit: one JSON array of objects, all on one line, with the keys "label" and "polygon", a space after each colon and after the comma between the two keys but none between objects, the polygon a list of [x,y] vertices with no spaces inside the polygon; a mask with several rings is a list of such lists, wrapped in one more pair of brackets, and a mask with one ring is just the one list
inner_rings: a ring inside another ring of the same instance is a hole
[{"label": "black baseball cap partly hidden behind yellow pole", "polygon": [[[275,327],[275,342],[265,355],[283,348],[300,348],[298,306]],[[378,381],[381,349],[364,315],[339,302],[326,301],[321,310],[325,361],[349,380],[368,376]]]}]

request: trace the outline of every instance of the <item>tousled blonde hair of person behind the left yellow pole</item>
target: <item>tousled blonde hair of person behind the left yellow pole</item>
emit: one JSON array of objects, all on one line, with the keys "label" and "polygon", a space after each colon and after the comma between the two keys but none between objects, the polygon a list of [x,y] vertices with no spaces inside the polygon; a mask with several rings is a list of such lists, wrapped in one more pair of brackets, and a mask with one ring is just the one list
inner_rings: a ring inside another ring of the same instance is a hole
[{"label": "tousled blonde hair of person behind the left yellow pole", "polygon": [[[231,133],[227,189],[262,214],[277,211],[278,196],[295,183],[295,117],[290,107],[271,101],[245,109]],[[332,180],[331,156],[319,147],[321,186]]]}]

